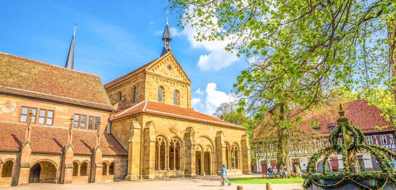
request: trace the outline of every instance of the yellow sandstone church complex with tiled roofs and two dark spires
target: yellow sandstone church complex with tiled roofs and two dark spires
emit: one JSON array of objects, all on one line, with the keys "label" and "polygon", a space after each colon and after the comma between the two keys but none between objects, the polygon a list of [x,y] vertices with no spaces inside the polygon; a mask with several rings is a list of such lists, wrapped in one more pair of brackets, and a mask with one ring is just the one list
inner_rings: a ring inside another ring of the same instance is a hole
[{"label": "yellow sandstone church complex with tiled roofs and two dark spires", "polygon": [[251,173],[245,128],[191,107],[171,53],[103,85],[65,67],[0,53],[0,186]]}]

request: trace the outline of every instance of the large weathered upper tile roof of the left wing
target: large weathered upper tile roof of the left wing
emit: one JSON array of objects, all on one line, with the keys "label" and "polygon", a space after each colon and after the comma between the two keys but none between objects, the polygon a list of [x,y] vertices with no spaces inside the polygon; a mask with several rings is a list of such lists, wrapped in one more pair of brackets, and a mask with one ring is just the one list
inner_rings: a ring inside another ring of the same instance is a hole
[{"label": "large weathered upper tile roof of the left wing", "polygon": [[0,92],[113,110],[99,76],[2,52]]}]

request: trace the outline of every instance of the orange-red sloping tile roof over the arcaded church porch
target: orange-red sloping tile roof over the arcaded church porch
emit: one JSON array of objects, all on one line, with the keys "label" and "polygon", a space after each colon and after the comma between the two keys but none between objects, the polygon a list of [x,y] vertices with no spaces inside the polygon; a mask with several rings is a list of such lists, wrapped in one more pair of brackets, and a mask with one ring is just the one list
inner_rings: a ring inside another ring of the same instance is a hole
[{"label": "orange-red sloping tile roof over the arcaded church porch", "polygon": [[150,113],[156,115],[163,115],[163,116],[170,116],[174,118],[183,118],[186,120],[194,120],[199,122],[205,122],[210,124],[218,124],[218,125],[225,125],[228,127],[234,127],[238,129],[246,129],[245,127],[230,124],[223,120],[219,120],[212,116],[208,116],[206,114],[202,114],[195,110],[191,110],[188,108],[183,108],[176,105],[168,105],[160,102],[154,101],[141,101],[137,104],[131,105],[124,110],[120,110],[114,114],[114,119],[123,118],[126,116],[130,116],[137,113]]}]

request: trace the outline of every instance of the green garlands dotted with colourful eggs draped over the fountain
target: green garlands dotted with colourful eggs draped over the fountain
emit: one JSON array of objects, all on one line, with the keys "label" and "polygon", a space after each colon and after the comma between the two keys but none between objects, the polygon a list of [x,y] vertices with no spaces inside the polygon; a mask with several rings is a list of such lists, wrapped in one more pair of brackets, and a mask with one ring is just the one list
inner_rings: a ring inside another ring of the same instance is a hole
[{"label": "green garlands dotted with colourful eggs draped over the fountain", "polygon": [[[345,143],[345,137],[346,135],[349,135],[349,133],[353,134],[354,141],[348,147]],[[343,142],[342,145],[338,142],[338,137],[340,134],[341,141]],[[349,182],[358,186],[362,190],[381,190],[389,182],[396,183],[396,173],[385,155],[387,154],[391,158],[396,158],[396,154],[383,146],[379,146],[376,144],[364,144],[364,139],[365,137],[362,133],[362,130],[355,127],[354,125],[336,127],[329,137],[330,146],[318,150],[318,152],[316,152],[311,157],[311,160],[308,163],[307,171],[303,175],[303,178],[305,179],[303,187],[308,188],[311,184],[315,184],[316,186],[321,188],[333,188]],[[357,152],[373,155],[378,161],[379,166],[381,167],[381,171],[362,172],[360,171],[360,167],[358,167],[358,173],[350,173],[350,169],[348,166],[348,152],[351,152],[355,155]],[[342,155],[344,172],[327,172],[327,159],[333,153],[339,153]],[[318,162],[319,158],[322,158],[322,156],[324,156],[323,171],[321,173],[316,173],[315,165]],[[376,180],[377,184],[373,186],[367,186],[359,182],[359,180],[367,179]],[[324,182],[324,180],[332,183],[324,184],[322,183]]]}]

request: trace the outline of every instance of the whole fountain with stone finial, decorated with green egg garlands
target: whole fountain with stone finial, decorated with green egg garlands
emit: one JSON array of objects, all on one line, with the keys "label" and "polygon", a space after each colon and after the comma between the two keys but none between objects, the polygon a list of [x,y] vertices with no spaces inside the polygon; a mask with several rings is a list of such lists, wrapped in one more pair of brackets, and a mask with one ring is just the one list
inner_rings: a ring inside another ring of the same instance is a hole
[{"label": "whole fountain with stone finial, decorated with green egg garlands", "polygon": [[[396,190],[396,173],[386,155],[396,158],[396,154],[383,146],[365,144],[362,131],[352,125],[340,104],[340,118],[329,137],[330,146],[316,152],[304,173],[303,187],[306,190]],[[352,142],[352,136],[354,141]],[[338,142],[341,137],[342,143]],[[381,171],[360,171],[356,154],[371,154],[378,161]],[[341,154],[342,172],[328,172],[327,163],[332,154]],[[323,160],[322,160],[323,159]],[[316,163],[322,160],[322,172],[316,172]]]}]

